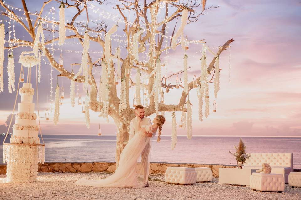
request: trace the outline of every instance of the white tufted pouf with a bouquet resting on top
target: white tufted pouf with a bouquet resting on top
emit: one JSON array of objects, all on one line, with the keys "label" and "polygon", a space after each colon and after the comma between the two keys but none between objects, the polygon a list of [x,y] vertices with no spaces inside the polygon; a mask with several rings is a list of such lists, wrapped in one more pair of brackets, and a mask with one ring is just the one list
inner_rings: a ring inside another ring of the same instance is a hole
[{"label": "white tufted pouf with a bouquet resting on top", "polygon": [[250,176],[250,188],[260,191],[282,192],[284,190],[284,177],[282,174],[253,172]]}]

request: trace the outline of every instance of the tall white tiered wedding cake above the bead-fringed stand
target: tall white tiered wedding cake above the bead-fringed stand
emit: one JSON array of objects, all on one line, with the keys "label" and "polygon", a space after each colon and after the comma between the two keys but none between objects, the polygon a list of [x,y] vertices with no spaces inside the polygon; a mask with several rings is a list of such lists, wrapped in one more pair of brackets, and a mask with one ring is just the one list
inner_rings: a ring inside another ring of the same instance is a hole
[{"label": "tall white tiered wedding cake above the bead-fringed stand", "polygon": [[40,144],[39,127],[36,122],[37,115],[34,113],[34,103],[32,103],[34,89],[31,88],[31,83],[24,83],[19,93],[21,102],[18,103],[16,123],[13,125],[10,142],[13,144]]}]

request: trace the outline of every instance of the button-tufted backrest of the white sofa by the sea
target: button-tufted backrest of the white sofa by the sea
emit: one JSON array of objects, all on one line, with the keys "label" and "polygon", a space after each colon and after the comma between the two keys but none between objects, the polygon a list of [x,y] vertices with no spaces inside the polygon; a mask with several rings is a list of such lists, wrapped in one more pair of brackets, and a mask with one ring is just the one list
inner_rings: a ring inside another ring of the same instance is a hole
[{"label": "button-tufted backrest of the white sofa by the sea", "polygon": [[250,153],[245,166],[261,166],[268,163],[271,166],[290,167],[294,171],[293,153]]}]

